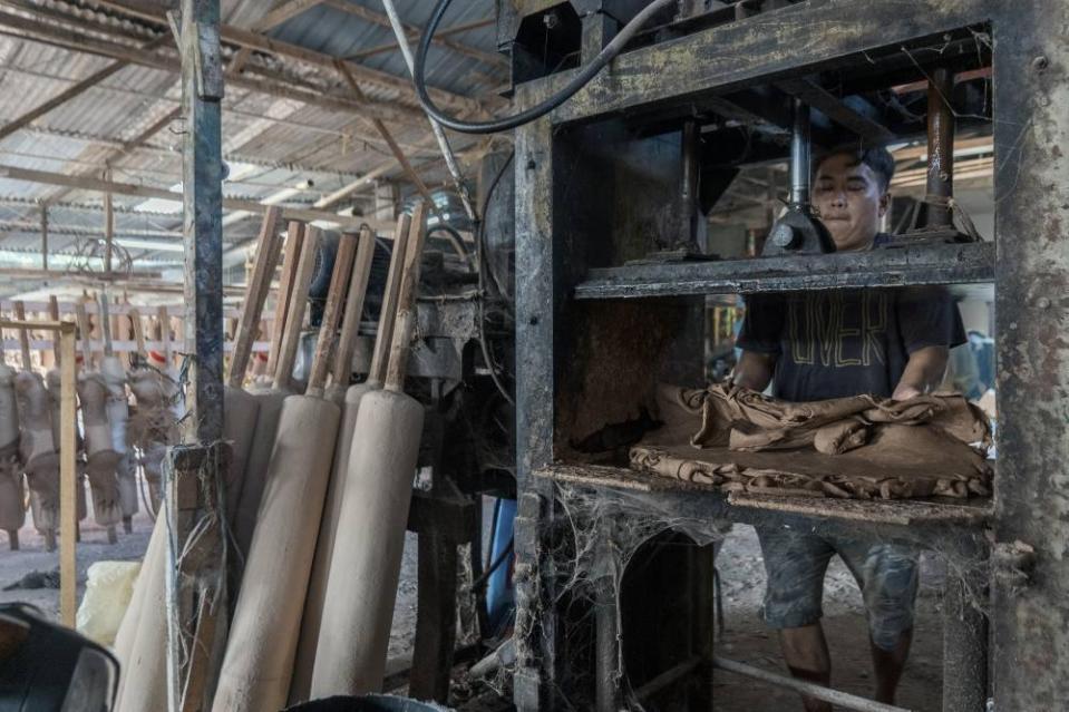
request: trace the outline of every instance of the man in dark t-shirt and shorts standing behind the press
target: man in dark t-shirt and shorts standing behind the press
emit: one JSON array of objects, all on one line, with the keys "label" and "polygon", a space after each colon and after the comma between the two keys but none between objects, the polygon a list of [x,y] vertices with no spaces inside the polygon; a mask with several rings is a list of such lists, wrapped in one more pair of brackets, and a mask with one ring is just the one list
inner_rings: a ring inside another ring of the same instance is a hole
[{"label": "man in dark t-shirt and shorts standing behind the press", "polygon": [[[871,250],[887,212],[894,160],[882,149],[826,156],[814,177],[814,205],[839,252]],[[949,349],[963,343],[961,316],[942,287],[859,289],[755,295],[738,345],[735,382],[789,401],[872,393],[903,400],[934,390]],[[862,589],[880,702],[893,703],[910,652],[917,553],[784,528],[758,530],[768,587],[764,615],[779,631],[791,674],[829,684],[820,626],[824,574],[838,554]],[[807,712],[829,704],[804,699]]]}]

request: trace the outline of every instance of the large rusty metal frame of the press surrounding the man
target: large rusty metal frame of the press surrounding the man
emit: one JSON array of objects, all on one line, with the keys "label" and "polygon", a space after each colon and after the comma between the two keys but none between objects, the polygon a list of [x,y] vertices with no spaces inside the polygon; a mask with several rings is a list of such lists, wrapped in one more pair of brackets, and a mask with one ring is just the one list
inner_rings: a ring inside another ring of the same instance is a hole
[{"label": "large rusty metal frame of the press surrounding the man", "polygon": [[[888,251],[847,265],[848,279],[805,276],[796,270],[788,275],[791,284],[747,272],[745,264],[735,265],[741,273],[733,275],[725,273],[723,263],[587,271],[576,259],[576,243],[590,235],[562,230],[566,206],[554,182],[572,150],[561,140],[562,131],[622,116],[634,123],[645,113],[686,113],[702,98],[748,84],[801,78],[866,51],[979,25],[989,28],[995,46],[993,254],[990,245],[975,246],[975,252],[961,248],[956,257],[951,250],[919,248],[923,264],[906,260],[895,265]],[[575,300],[989,280],[995,283],[1000,335],[1000,460],[994,516],[987,529],[997,556],[991,577],[979,584],[990,584],[992,591],[991,689],[998,710],[1056,709],[1069,699],[1069,679],[1056,672],[1069,664],[1063,623],[1069,615],[1063,545],[1069,540],[1069,339],[1063,334],[1069,323],[1069,47],[1059,37],[1067,26],[1069,7],[1059,0],[814,0],[626,52],[554,114],[517,130],[516,269],[524,279],[517,280],[516,295],[516,627],[528,634],[517,641],[519,710],[557,706],[555,675],[564,664],[555,659],[560,622],[545,606],[554,594],[552,581],[540,573],[543,537],[554,520],[554,489],[552,480],[534,474],[556,460],[555,400],[566,388],[573,355],[565,352],[565,337],[580,303]],[[518,103],[536,103],[568,77],[564,71],[518,86]],[[681,498],[680,505],[689,499]],[[723,514],[739,518],[731,507]],[[789,516],[766,514],[771,519]],[[985,538],[975,537],[974,527],[956,529],[946,536],[965,549],[975,547],[963,553],[987,555]],[[945,664],[956,666],[947,672],[963,675],[964,682],[944,695],[943,709],[979,712],[988,698],[985,622],[954,592],[950,602],[960,625],[947,628],[947,650],[954,650]]]}]

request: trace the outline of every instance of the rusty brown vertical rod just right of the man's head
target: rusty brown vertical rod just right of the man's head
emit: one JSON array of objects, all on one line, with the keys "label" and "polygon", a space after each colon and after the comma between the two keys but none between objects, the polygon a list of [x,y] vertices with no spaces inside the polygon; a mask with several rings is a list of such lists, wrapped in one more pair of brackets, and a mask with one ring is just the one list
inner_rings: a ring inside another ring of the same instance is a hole
[{"label": "rusty brown vertical rod just right of the man's head", "polygon": [[954,75],[945,67],[932,71],[927,89],[927,211],[925,226],[953,225],[950,199],[954,196],[954,111],[950,97]]}]

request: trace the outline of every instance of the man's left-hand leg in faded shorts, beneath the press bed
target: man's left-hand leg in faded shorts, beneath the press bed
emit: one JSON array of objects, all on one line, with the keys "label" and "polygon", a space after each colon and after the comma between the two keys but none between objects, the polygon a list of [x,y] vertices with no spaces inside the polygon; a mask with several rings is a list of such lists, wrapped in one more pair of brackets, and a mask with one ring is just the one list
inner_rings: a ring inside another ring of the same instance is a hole
[{"label": "man's left-hand leg in faded shorts, beneath the press bed", "polygon": [[[828,684],[832,661],[820,627],[824,573],[834,555],[823,538],[786,529],[759,528],[768,585],[765,622],[779,631],[784,661],[800,680]],[[830,712],[832,705],[803,698],[806,712]]]}]

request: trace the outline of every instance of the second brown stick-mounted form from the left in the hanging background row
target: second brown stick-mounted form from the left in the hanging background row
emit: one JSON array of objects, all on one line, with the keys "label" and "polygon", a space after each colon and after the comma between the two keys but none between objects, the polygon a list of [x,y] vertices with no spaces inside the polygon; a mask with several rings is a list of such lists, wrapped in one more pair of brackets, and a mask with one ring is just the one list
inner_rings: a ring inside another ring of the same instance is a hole
[{"label": "second brown stick-mounted form from the left in the hanging background row", "polygon": [[[16,319],[26,320],[21,302],[14,304]],[[14,377],[19,402],[21,437],[19,455],[30,488],[33,524],[45,537],[45,548],[56,550],[59,528],[59,452],[52,437],[51,403],[45,382],[30,361],[30,341],[26,329],[19,329],[22,345],[22,372]]]}]

